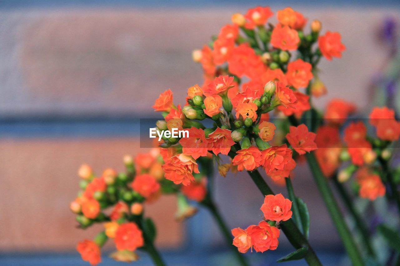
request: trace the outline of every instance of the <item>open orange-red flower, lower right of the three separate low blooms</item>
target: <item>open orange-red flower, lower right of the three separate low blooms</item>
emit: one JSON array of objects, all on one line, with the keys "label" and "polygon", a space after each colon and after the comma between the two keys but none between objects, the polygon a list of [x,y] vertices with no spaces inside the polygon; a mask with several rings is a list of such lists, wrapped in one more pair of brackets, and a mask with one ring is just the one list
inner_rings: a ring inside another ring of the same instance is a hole
[{"label": "open orange-red flower, lower right of the three separate low blooms", "polygon": [[275,226],[270,226],[268,222],[261,221],[258,225],[250,225],[246,230],[256,252],[275,250],[278,247],[280,231]]}]

